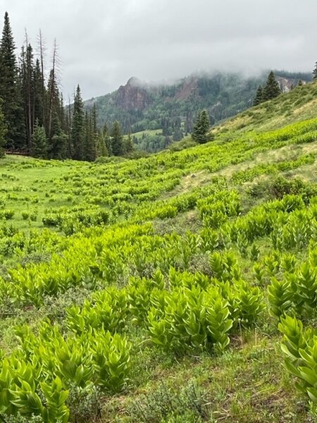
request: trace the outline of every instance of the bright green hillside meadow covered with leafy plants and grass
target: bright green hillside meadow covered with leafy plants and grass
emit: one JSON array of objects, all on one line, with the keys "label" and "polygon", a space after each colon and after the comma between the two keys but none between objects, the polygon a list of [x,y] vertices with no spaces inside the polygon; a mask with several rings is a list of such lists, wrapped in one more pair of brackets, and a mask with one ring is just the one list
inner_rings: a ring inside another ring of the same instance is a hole
[{"label": "bright green hillside meadow covered with leafy plants and grass", "polygon": [[316,421],[300,90],[181,152],[0,161],[0,421]]}]

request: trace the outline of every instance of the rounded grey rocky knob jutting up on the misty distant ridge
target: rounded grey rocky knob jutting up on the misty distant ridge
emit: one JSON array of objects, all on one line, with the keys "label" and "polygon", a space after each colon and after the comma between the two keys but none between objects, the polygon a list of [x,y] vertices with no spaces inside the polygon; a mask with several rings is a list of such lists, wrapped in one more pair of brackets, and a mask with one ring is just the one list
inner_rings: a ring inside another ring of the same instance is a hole
[{"label": "rounded grey rocky knob jutting up on the misty distant ridge", "polygon": [[137,78],[130,78],[126,85],[120,85],[116,94],[116,105],[123,110],[144,110],[151,100]]}]

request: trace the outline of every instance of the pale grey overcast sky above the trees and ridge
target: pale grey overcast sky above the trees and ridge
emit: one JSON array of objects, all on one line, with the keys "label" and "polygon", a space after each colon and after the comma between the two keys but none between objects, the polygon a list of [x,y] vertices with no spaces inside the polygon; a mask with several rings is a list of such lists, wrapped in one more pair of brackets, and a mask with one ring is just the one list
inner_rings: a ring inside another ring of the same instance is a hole
[{"label": "pale grey overcast sky above the trees and ridge", "polygon": [[85,99],[130,76],[166,80],[195,71],[311,71],[316,0],[0,0],[20,51],[25,28],[47,65],[56,37],[63,92]]}]

